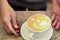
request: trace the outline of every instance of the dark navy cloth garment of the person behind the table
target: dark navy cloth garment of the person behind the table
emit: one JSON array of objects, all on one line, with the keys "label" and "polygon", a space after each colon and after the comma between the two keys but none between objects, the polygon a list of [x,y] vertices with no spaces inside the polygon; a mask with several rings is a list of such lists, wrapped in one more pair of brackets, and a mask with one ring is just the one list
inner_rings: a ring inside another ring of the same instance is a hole
[{"label": "dark navy cloth garment of the person behind the table", "polygon": [[8,0],[12,5],[29,9],[41,9],[47,7],[47,0]]}]

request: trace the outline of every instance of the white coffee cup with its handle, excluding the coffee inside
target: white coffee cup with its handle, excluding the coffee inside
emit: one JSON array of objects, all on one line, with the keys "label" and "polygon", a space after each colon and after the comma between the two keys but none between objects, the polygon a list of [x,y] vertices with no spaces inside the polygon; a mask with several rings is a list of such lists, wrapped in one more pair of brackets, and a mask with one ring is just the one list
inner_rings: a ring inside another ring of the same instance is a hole
[{"label": "white coffee cup with its handle, excluding the coffee inside", "polygon": [[[26,21],[26,25],[27,25],[27,28],[28,28],[28,30],[30,31],[30,38],[32,39],[32,40],[34,40],[35,38],[33,37],[34,35],[36,35],[36,34],[38,34],[38,33],[43,33],[44,31],[47,31],[50,27],[51,27],[51,20],[50,20],[50,18],[47,16],[47,15],[45,15],[45,14],[35,14],[35,15],[32,15],[32,16],[36,16],[36,15],[43,15],[43,16],[45,16],[47,19],[48,19],[48,27],[46,28],[46,29],[43,29],[43,30],[33,30],[33,29],[31,29],[30,27],[29,27],[29,25],[28,25],[28,23],[27,23],[27,21]],[[31,16],[31,17],[32,17]],[[27,19],[27,20],[29,20],[29,18]],[[44,25],[44,24],[43,24]]]}]

